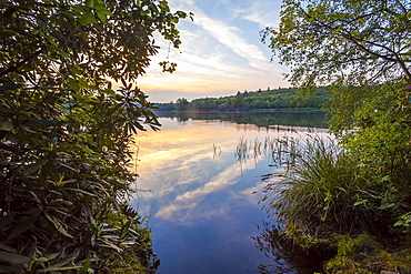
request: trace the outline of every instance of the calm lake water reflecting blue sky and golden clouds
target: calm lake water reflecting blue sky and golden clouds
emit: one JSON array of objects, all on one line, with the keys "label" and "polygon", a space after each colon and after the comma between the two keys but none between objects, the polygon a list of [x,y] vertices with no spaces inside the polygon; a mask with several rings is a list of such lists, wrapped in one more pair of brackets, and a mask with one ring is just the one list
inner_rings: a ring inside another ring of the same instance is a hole
[{"label": "calm lake water reflecting blue sky and golden clouds", "polygon": [[[283,263],[267,257],[252,239],[268,217],[259,204],[268,183],[261,176],[281,169],[252,146],[298,139],[308,125],[327,134],[323,114],[163,115],[159,121],[161,131],[136,138],[139,177],[132,201],[149,217],[158,273],[259,273],[258,265]],[[242,156],[239,143],[248,148]]]}]

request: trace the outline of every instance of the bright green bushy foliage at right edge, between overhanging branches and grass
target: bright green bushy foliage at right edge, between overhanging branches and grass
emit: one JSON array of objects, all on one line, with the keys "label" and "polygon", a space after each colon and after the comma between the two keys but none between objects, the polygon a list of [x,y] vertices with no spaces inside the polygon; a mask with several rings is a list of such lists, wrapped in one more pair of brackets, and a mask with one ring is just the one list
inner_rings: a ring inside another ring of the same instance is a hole
[{"label": "bright green bushy foliage at right edge, between overhanging branches and grass", "polygon": [[[350,115],[345,113],[351,116],[350,121],[340,119],[348,109],[343,99],[350,94],[341,89],[333,92],[337,100],[332,100],[332,130],[341,136],[344,148],[372,171],[374,190],[378,190],[374,195],[382,201],[380,207],[391,206],[391,222],[408,226],[411,202],[410,92],[403,82],[351,90],[357,93],[352,97],[361,100],[352,104]],[[342,129],[349,126],[358,128],[344,133]]]}]

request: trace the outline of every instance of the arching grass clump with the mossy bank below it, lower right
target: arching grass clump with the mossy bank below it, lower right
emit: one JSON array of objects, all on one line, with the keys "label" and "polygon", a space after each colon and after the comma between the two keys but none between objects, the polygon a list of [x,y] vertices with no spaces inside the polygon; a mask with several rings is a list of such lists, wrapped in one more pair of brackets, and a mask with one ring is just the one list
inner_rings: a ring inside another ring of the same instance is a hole
[{"label": "arching grass clump with the mossy bank below it, lower right", "polygon": [[327,273],[411,270],[407,161],[363,161],[315,134],[287,153],[283,180],[265,187],[265,209],[283,236],[304,248],[329,243],[337,255],[323,265]]}]

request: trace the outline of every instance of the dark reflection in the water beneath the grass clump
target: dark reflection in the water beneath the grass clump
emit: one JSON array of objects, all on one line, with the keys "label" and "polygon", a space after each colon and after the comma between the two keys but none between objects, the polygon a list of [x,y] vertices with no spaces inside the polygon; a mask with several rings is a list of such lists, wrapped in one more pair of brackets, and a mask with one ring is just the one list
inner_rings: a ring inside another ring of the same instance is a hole
[{"label": "dark reflection in the water beneath the grass clump", "polygon": [[272,260],[271,265],[259,265],[260,274],[271,273],[299,273],[311,274],[321,272],[322,262],[330,260],[334,251],[325,248],[325,245],[311,246],[303,250],[292,240],[287,239],[278,225],[263,222],[263,231],[253,237],[255,246]]}]

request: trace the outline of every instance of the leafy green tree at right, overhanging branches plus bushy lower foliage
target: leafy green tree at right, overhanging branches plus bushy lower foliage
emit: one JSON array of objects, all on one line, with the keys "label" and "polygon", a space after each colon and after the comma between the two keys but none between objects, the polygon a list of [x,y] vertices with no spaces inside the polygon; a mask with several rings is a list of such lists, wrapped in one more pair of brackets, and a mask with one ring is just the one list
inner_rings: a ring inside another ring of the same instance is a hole
[{"label": "leafy green tree at right, overhanging branches plus bushy lower foliage", "polygon": [[[367,182],[359,189],[372,193],[355,206],[372,210],[370,220],[384,220],[387,231],[394,232],[394,224],[409,226],[411,2],[283,0],[280,16],[280,27],[265,29],[262,39],[291,67],[288,78],[301,92],[329,85],[331,130],[355,159],[348,166]],[[327,201],[338,204],[340,195]]]}]

